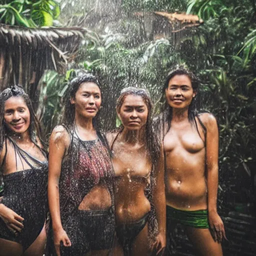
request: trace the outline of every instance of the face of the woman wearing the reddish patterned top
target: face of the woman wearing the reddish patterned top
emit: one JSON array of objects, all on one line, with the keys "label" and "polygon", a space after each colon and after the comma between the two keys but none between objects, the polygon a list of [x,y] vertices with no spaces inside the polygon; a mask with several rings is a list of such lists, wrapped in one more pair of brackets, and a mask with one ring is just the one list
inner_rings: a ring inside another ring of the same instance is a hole
[{"label": "face of the woman wearing the reddish patterned top", "polygon": [[70,101],[74,104],[76,114],[85,118],[93,118],[101,104],[100,89],[94,82],[83,82]]}]

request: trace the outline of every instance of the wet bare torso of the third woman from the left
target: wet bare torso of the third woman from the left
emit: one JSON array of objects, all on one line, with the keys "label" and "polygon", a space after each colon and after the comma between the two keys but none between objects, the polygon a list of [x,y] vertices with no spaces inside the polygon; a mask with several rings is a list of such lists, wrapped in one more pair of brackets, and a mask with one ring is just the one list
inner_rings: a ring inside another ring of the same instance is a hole
[{"label": "wet bare torso of the third woman from the left", "polygon": [[112,163],[115,172],[116,222],[132,223],[150,210],[144,189],[149,182],[151,163],[147,160],[143,145],[115,143]]}]

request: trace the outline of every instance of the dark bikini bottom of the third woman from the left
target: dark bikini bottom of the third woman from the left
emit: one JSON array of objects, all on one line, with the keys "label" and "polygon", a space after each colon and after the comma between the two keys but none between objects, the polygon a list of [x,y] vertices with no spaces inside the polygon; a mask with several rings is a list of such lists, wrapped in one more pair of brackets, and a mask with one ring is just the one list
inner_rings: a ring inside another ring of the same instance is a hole
[{"label": "dark bikini bottom of the third woman from the left", "polygon": [[146,213],[142,218],[138,221],[129,223],[129,224],[122,224],[116,226],[116,236],[117,240],[120,245],[123,247],[123,254],[124,256],[131,255],[131,248],[132,243],[139,232],[144,228],[147,223],[148,213]]}]

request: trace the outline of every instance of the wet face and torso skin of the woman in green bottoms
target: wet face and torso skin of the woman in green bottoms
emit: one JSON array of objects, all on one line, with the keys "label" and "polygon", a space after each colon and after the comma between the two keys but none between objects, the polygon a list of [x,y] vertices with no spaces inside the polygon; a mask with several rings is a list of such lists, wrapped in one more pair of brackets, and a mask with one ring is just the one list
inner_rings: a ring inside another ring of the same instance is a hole
[{"label": "wet face and torso skin of the woman in green bottoms", "polygon": [[[165,96],[177,114],[187,112],[195,96],[189,77],[172,77]],[[172,119],[171,128],[163,139],[166,155],[166,204],[179,209],[207,208],[204,136],[201,125],[198,123],[197,126],[201,137],[188,118],[176,122]]]}]

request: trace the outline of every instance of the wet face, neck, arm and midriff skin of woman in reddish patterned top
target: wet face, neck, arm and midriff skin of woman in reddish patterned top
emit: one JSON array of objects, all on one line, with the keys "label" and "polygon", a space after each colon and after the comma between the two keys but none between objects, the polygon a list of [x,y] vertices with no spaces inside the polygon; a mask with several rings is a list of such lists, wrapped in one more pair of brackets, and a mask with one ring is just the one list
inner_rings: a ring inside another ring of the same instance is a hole
[{"label": "wet face, neck, arm and midriff skin of woman in reddish patterned top", "polygon": [[[92,125],[101,104],[101,93],[97,84],[93,82],[81,83],[74,98],[70,98],[75,107],[75,128],[81,140],[94,140],[97,138],[96,130]],[[54,245],[57,255],[60,255],[59,246],[71,246],[71,242],[62,227],[59,211],[58,182],[62,161],[65,160],[69,147],[69,135],[63,126],[56,126],[49,140],[49,176],[48,199],[52,217]],[[79,210],[108,209],[111,199],[108,189],[104,185],[94,186],[78,205]],[[90,255],[107,255],[108,250],[91,251]]]}]

